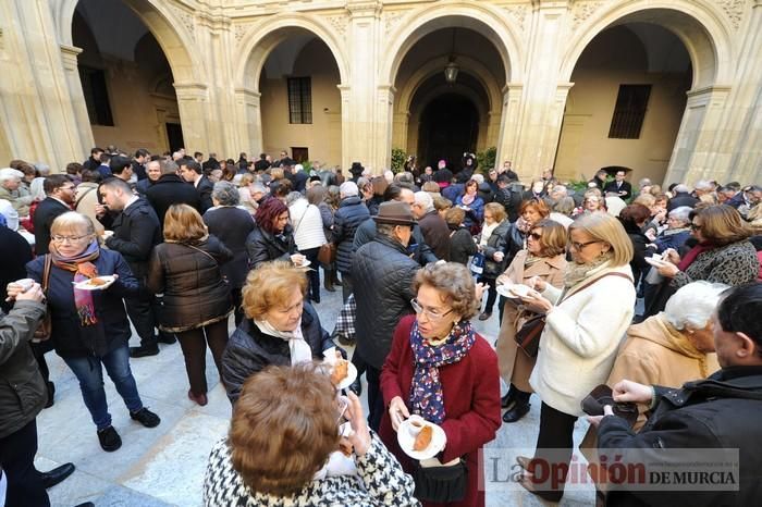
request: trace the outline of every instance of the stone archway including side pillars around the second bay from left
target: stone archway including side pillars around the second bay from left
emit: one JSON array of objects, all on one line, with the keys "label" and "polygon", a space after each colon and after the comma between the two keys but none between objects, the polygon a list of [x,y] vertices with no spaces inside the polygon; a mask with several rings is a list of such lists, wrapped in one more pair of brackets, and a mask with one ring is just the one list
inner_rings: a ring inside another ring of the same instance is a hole
[{"label": "stone archway including side pillars around the second bay from left", "polygon": [[[339,78],[335,86],[339,89],[339,101],[331,102],[331,106],[321,107],[318,114],[325,114],[325,126],[329,128],[330,143],[337,145],[337,150],[341,153],[341,147],[347,146],[347,125],[346,108],[344,107],[344,89],[345,83],[349,78],[349,70],[347,59],[342,50],[342,45],[335,38],[333,32],[324,25],[324,23],[316,17],[303,14],[292,14],[280,16],[274,22],[267,22],[257,25],[248,34],[246,34],[238,46],[242,60],[238,62],[235,74],[235,95],[236,104],[238,106],[238,135],[241,146],[248,146],[255,152],[263,151],[265,136],[262,133],[262,113],[260,83],[262,83],[262,74],[269,57],[275,51],[279,46],[290,44],[288,41],[302,39],[305,44],[309,40],[317,40],[322,45],[327,52],[332,57],[332,64],[336,67]],[[303,45],[299,50],[305,49]],[[296,59],[298,54],[293,54]],[[284,85],[285,86],[285,85]],[[288,120],[288,111],[285,111],[285,119]],[[339,135],[334,135],[339,129]],[[294,131],[294,129],[292,129]],[[296,139],[304,139],[307,132],[297,132]],[[285,134],[288,138],[290,134]],[[281,136],[283,138],[283,136]],[[298,143],[298,140],[294,140]],[[293,144],[281,145],[278,149],[295,146]],[[335,151],[335,149],[334,149]],[[314,158],[310,153],[310,158]],[[340,160],[328,160],[329,162],[344,162],[344,156],[340,154]],[[324,159],[324,158],[323,158]],[[321,160],[327,162],[327,160]]]}]

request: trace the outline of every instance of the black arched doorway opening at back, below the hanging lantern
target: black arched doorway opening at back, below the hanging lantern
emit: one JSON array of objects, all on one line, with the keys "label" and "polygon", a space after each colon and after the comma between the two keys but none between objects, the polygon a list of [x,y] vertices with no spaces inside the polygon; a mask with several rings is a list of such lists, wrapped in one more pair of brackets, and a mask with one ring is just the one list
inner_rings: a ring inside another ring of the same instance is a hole
[{"label": "black arched doorway opening at back, below the hanging lantern", "polygon": [[479,113],[462,95],[447,94],[432,100],[421,114],[418,152],[425,165],[437,166],[440,159],[450,169],[460,168],[463,153],[475,152],[479,135]]}]

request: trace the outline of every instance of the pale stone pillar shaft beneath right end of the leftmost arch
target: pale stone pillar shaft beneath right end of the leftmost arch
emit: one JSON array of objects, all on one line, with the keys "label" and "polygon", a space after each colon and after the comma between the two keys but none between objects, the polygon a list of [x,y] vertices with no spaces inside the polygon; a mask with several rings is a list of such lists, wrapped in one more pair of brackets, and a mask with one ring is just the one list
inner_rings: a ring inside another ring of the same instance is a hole
[{"label": "pale stone pillar shaft beneath right end of the leftmost arch", "polygon": [[207,118],[209,102],[207,85],[201,83],[175,83],[177,94],[177,109],[180,121],[183,125],[183,140],[188,150],[204,152],[214,151],[210,146],[207,124],[214,125],[212,119]]}]

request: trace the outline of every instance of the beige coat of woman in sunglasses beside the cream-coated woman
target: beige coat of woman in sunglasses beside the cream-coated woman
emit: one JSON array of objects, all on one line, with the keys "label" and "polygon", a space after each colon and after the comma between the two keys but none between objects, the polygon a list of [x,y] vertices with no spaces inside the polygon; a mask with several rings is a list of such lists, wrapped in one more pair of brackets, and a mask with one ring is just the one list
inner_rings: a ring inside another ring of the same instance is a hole
[{"label": "beige coat of woman in sunglasses beside the cream-coated woman", "polygon": [[[497,277],[496,283],[499,285],[505,283],[526,284],[532,276],[540,276],[554,287],[561,287],[564,284],[566,259],[563,253],[543,258],[525,270],[524,262],[527,259],[527,250],[520,250],[516,253],[508,269]],[[528,316],[530,317],[531,313]],[[531,393],[529,375],[532,372],[532,368],[534,368],[534,358],[527,356],[523,351],[517,353],[518,346],[515,339],[516,331],[524,324],[526,318],[527,314],[520,312],[513,300],[508,299],[505,301],[503,322],[500,326],[500,336],[495,348],[500,376],[503,381],[506,384],[513,384],[519,391]]]}]

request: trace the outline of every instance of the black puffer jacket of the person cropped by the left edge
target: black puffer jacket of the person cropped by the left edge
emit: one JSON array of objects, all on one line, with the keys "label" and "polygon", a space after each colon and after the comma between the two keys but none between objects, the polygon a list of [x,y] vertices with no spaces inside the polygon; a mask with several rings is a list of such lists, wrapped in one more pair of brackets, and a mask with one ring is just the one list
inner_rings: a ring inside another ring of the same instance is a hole
[{"label": "black puffer jacket of the person cropped by the left edge", "polygon": [[45,314],[45,305],[16,301],[0,318],[0,438],[24,428],[48,399],[29,339]]}]

